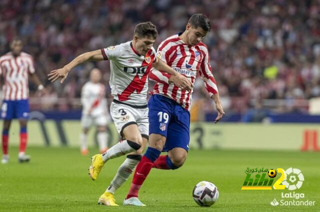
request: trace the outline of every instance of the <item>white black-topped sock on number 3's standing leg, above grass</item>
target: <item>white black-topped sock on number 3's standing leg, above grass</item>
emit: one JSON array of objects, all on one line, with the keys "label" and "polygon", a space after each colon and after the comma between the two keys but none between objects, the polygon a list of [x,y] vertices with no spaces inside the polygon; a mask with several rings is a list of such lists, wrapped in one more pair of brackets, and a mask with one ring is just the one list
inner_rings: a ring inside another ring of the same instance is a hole
[{"label": "white black-topped sock on number 3's standing leg, above grass", "polygon": [[118,188],[120,188],[130,177],[140,160],[140,155],[128,155],[125,161],[118,168],[118,171],[111,181],[111,184],[105,191],[113,194]]}]

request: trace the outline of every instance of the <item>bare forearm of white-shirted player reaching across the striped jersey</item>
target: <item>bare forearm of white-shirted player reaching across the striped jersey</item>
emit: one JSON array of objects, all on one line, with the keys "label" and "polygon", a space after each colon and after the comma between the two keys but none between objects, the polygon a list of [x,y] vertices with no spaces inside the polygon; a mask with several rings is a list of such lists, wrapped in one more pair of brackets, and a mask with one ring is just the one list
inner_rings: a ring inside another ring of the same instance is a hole
[{"label": "bare forearm of white-shirted player reaching across the striped jersey", "polygon": [[169,81],[172,81],[179,88],[189,91],[192,89],[191,82],[186,77],[173,70],[165,62],[163,62],[163,60],[157,58],[156,61],[152,63],[152,66],[157,70],[170,74],[171,76]]}]

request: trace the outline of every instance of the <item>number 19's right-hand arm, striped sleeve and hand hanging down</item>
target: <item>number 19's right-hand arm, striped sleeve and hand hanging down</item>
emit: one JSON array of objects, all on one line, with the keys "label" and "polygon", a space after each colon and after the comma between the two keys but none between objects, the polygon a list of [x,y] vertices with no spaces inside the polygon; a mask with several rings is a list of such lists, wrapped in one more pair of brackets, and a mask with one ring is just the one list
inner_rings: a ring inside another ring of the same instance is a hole
[{"label": "number 19's right-hand arm, striped sleeve and hand hanging down", "polygon": [[208,53],[206,46],[205,46],[205,50],[202,52],[204,52],[204,57],[202,59],[201,65],[200,65],[199,73],[200,73],[202,80],[204,81],[204,86],[205,86],[206,90],[208,91],[211,99],[213,99],[213,101],[215,103],[215,108],[218,112],[218,115],[215,118],[214,123],[217,123],[224,115],[224,111],[223,111],[223,107],[222,107],[222,104],[220,101],[216,82],[215,82],[215,79],[212,74],[209,53]]}]

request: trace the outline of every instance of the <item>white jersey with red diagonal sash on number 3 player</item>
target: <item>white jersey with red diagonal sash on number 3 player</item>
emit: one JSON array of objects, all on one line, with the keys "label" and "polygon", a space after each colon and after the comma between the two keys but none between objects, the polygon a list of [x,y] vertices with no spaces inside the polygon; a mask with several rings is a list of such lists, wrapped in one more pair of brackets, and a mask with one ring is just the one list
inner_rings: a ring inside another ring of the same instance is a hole
[{"label": "white jersey with red diagonal sash on number 3 player", "polygon": [[128,41],[101,49],[105,60],[110,60],[109,84],[113,101],[132,106],[145,106],[148,91],[148,73],[156,60],[152,47],[145,56],[139,55]]}]

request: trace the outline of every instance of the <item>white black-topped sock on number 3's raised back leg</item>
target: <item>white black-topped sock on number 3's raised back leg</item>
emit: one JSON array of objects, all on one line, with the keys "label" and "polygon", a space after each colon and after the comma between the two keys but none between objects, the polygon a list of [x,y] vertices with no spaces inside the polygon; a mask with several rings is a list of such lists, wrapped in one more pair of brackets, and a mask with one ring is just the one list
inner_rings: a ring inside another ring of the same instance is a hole
[{"label": "white black-topped sock on number 3's raised back leg", "polygon": [[130,152],[140,149],[140,145],[129,140],[123,140],[112,146],[108,151],[102,154],[103,162],[107,162],[109,159],[120,157],[121,155],[128,154]]}]

